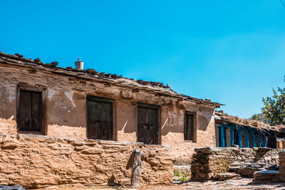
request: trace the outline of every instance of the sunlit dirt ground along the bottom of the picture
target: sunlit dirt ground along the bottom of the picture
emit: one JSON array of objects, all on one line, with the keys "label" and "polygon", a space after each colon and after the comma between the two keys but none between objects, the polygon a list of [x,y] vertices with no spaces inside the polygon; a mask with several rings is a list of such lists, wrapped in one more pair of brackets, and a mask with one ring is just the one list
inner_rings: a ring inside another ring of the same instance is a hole
[{"label": "sunlit dirt ground along the bottom of the picture", "polygon": [[[184,184],[173,184],[172,186],[142,186],[140,188],[131,188],[128,186],[93,186],[93,187],[76,187],[76,186],[51,186],[44,188],[45,190],[186,190],[186,189],[285,189],[285,183],[279,184],[250,184],[252,179],[237,179],[227,181],[207,181],[207,182],[194,182],[190,181]],[[43,189],[38,189],[43,190]]]}]

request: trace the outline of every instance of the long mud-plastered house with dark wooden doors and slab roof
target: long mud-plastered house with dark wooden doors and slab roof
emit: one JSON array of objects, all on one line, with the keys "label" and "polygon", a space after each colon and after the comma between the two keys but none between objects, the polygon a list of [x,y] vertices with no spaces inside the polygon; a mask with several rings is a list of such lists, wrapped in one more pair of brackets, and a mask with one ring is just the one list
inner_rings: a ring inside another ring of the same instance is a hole
[{"label": "long mud-plastered house with dark wooden doors and slab roof", "polygon": [[1,52],[0,75],[1,134],[162,144],[177,162],[216,144],[220,104],[169,85]]}]

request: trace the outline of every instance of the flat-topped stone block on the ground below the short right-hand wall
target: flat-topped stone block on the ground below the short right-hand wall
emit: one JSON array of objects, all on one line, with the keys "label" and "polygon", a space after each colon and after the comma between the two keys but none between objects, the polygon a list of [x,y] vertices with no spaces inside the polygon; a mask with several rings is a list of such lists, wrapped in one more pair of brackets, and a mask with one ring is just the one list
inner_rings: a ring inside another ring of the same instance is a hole
[{"label": "flat-topped stone block on the ground below the short right-hand wall", "polygon": [[256,171],[254,173],[254,179],[252,179],[253,184],[269,184],[280,182],[279,171],[275,170],[264,170]]}]

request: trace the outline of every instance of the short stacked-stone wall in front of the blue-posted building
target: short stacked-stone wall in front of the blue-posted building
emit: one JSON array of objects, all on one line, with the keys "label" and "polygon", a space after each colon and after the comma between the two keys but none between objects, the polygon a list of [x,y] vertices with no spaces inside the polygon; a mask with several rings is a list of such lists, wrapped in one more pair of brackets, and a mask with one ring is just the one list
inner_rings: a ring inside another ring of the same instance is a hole
[{"label": "short stacked-stone wall in front of the blue-posted building", "polygon": [[[270,148],[211,148],[195,149],[192,157],[192,179],[214,179],[219,173],[227,173],[234,167],[245,164],[260,164],[263,167],[279,164],[277,149]],[[285,169],[284,169],[285,170]]]}]

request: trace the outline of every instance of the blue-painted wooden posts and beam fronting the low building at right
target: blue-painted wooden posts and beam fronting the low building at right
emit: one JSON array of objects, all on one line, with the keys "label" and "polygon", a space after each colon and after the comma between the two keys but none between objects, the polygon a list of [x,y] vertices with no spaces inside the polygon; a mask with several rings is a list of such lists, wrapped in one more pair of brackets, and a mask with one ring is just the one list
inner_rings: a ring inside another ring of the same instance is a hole
[{"label": "blue-painted wooden posts and beam fronting the low building at right", "polygon": [[[229,130],[229,134],[230,134],[230,144],[226,143],[226,138],[225,137],[225,131]],[[223,124],[221,126],[219,126],[219,132],[220,132],[220,138],[219,139],[219,146],[220,147],[227,147],[227,146],[232,146],[234,145],[234,130],[237,132],[237,144],[239,144],[239,147],[242,148],[242,131],[245,132],[245,147],[266,147],[266,133],[261,132],[259,130],[253,129],[251,127],[246,127],[246,126],[238,126],[237,124],[235,125],[227,125],[227,124]],[[249,145],[249,132],[252,133],[252,144]],[[258,137],[258,144],[256,144],[255,139],[256,136],[255,134],[257,134]],[[262,139],[262,143],[261,143],[261,135],[263,137]]]}]

